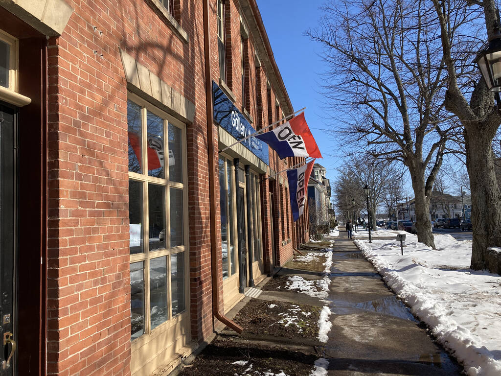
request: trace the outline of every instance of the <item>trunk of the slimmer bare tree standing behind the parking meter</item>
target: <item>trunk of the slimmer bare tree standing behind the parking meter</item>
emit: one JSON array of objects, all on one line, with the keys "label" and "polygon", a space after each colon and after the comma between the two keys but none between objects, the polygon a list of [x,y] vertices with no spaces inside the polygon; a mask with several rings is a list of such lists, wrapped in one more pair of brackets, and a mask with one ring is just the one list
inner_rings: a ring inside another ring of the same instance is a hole
[{"label": "trunk of the slimmer bare tree standing behind the parking meter", "polygon": [[435,249],[429,219],[430,197],[426,197],[424,192],[424,171],[416,173],[411,171],[411,180],[415,200],[417,241]]}]

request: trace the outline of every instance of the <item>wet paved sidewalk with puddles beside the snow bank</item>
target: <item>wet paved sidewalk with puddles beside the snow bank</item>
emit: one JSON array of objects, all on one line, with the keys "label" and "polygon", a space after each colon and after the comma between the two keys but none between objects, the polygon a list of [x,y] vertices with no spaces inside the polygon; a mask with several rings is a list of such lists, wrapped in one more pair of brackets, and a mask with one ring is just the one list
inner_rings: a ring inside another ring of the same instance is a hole
[{"label": "wet paved sidewalk with puddles beside the snow bank", "polygon": [[329,375],[459,375],[462,368],[386,286],[352,241],[334,238],[324,348]]}]

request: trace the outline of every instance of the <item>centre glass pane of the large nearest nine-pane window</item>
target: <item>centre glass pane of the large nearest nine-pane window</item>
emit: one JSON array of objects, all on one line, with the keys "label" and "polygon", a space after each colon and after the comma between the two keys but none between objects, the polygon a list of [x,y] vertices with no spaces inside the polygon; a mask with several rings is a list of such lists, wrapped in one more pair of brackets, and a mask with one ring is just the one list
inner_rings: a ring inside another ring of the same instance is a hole
[{"label": "centre glass pane of the large nearest nine-pane window", "polygon": [[148,184],[150,251],[165,249],[165,186]]}]

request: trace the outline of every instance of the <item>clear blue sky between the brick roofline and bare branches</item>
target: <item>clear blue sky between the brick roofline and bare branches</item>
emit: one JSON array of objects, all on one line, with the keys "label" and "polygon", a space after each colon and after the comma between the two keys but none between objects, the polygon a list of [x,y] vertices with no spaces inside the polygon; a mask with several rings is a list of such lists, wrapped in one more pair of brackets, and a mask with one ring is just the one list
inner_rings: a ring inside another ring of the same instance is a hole
[{"label": "clear blue sky between the brick roofline and bare branches", "polygon": [[[313,5],[312,5],[313,3]],[[327,177],[334,182],[341,160],[332,156],[332,135],[322,131],[328,126],[332,112],[325,109],[319,83],[325,71],[319,54],[321,46],[304,35],[315,27],[321,17],[320,1],[305,3],[299,0],[258,0],[259,10],[273,48],[294,110],[306,107],[305,118],[322,152],[317,162],[327,168]]]}]

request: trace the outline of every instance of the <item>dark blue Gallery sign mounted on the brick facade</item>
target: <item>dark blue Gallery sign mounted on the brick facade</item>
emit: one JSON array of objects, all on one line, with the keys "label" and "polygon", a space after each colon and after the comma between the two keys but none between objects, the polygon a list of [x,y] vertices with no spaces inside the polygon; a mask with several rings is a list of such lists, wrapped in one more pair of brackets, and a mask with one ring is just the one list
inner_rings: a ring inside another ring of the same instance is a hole
[{"label": "dark blue Gallery sign mounted on the brick facade", "polygon": [[[256,129],[238,111],[233,102],[227,97],[217,84],[212,81],[212,95],[214,101],[214,121],[231,134],[236,140],[247,137],[256,132]],[[242,145],[253,152],[259,159],[269,164],[268,144],[256,137],[249,137],[242,141]]]}]

